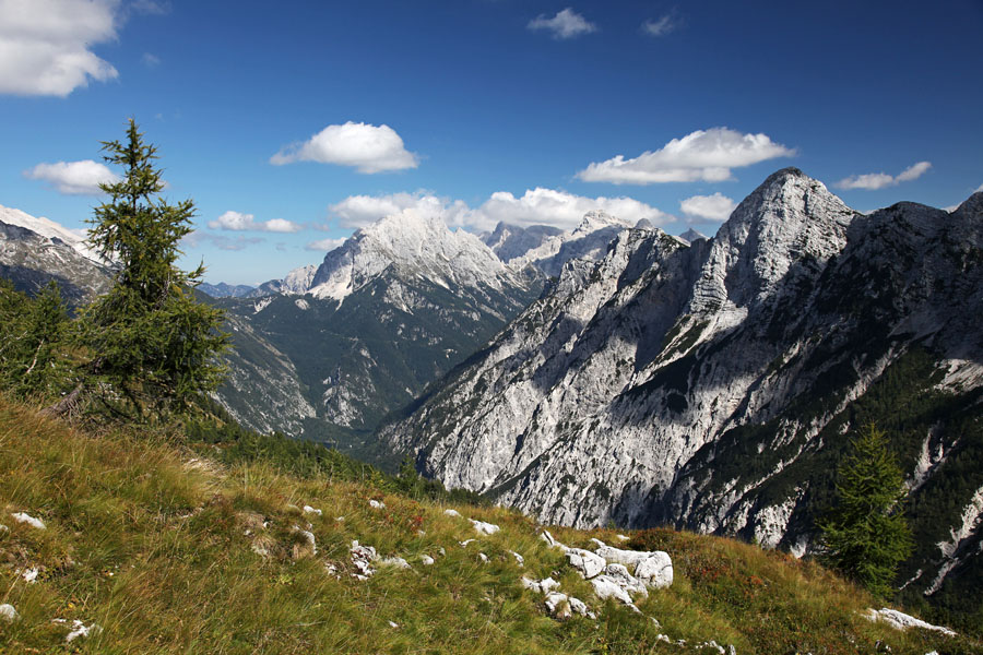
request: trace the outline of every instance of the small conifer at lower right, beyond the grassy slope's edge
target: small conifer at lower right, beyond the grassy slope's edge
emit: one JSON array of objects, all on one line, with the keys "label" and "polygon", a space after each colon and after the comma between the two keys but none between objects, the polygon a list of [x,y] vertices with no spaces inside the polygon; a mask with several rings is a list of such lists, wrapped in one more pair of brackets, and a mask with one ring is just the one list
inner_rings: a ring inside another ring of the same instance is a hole
[{"label": "small conifer at lower right, beyond the grassy slope's edge", "polygon": [[852,441],[840,464],[838,503],[820,523],[827,560],[872,593],[888,597],[899,563],[911,555],[901,501],[901,468],[874,425]]}]

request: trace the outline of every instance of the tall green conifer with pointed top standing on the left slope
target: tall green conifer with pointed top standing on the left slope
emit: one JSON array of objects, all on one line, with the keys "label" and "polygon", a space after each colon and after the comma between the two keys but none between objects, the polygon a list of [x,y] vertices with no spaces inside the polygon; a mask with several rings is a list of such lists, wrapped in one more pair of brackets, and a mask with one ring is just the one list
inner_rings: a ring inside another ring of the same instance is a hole
[{"label": "tall green conifer with pointed top standing on the left slope", "polygon": [[218,330],[223,313],[194,298],[203,265],[191,272],[176,265],[194,205],[159,199],[156,147],[143,142],[132,119],[126,141],[104,142],[103,151],[125,177],[100,184],[110,200],[90,221],[90,242],[117,274],[109,293],[81,315],[82,342],[94,356],[88,373],[108,391],[100,397],[114,409],[182,410],[220,384],[224,369],[216,356],[228,341]]}]

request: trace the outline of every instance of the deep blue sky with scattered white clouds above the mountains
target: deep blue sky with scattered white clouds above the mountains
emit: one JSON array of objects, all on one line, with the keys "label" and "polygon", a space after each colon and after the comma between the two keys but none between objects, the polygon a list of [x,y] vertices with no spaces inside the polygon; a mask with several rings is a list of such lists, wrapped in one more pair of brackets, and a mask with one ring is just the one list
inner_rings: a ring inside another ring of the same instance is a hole
[{"label": "deep blue sky with scattered white clouds above the mountains", "polygon": [[784,166],[951,206],[983,186],[981,33],[979,0],[0,0],[0,204],[83,227],[134,117],[210,282],[406,210],[712,234]]}]

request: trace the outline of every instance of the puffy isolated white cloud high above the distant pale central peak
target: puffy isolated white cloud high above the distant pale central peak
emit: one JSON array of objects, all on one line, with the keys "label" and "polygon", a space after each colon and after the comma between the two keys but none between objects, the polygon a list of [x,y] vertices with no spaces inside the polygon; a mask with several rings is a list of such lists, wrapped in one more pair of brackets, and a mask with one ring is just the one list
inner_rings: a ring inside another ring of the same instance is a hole
[{"label": "puffy isolated white cloud high above the distant pale central peak", "polygon": [[308,141],[284,146],[270,158],[276,166],[294,162],[319,162],[352,166],[374,174],[416,168],[415,154],[406,151],[403,139],[389,126],[348,121],[328,126]]}]

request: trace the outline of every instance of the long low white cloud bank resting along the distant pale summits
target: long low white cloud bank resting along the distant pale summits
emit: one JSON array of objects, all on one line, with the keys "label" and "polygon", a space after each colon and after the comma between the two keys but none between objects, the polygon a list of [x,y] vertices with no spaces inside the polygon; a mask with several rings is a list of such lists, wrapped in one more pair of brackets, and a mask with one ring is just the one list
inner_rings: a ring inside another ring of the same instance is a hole
[{"label": "long low white cloud bank resting along the distant pale summits", "polygon": [[513,225],[552,225],[571,229],[592,210],[603,210],[632,223],[648,218],[653,225],[674,221],[673,216],[632,198],[585,198],[554,189],[529,189],[521,196],[498,191],[471,209],[461,200],[439,198],[433,193],[393,193],[389,195],[352,195],[331,205],[342,227],[364,227],[383,216],[412,210],[439,216],[449,227],[489,230],[499,222]]}]

